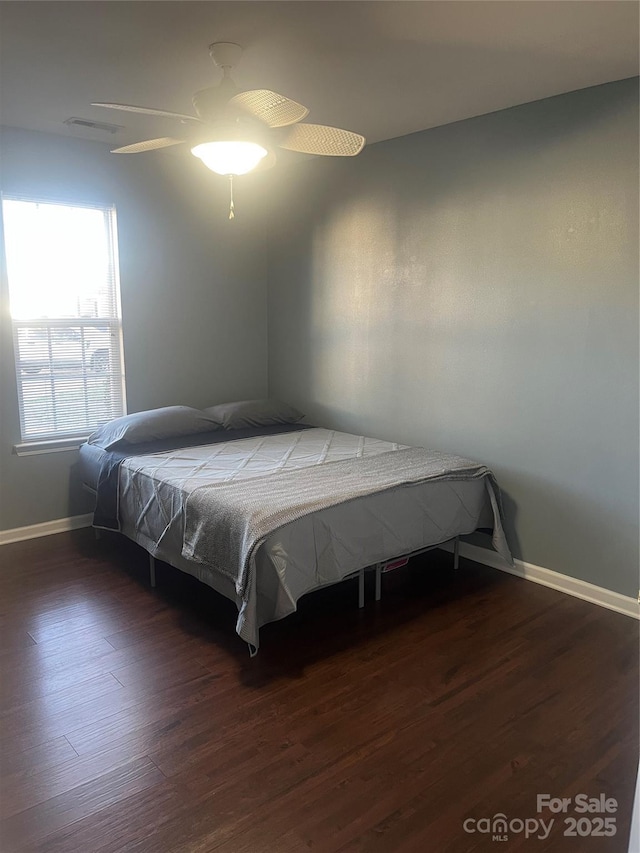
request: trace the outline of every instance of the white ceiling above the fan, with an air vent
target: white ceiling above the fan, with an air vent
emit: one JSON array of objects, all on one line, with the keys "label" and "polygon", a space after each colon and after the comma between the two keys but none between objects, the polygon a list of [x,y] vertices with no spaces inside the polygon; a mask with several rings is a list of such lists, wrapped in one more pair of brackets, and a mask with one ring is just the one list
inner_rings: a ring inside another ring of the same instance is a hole
[{"label": "white ceiling above the fan, with an air vent", "polygon": [[[122,145],[175,122],[91,107],[192,112],[216,83],[213,41],[234,73],[311,109],[308,121],[390,139],[638,73],[638,4],[598,0],[235,0],[0,3],[0,122]],[[124,128],[70,131],[71,116]],[[177,134],[179,135],[179,134]]]}]

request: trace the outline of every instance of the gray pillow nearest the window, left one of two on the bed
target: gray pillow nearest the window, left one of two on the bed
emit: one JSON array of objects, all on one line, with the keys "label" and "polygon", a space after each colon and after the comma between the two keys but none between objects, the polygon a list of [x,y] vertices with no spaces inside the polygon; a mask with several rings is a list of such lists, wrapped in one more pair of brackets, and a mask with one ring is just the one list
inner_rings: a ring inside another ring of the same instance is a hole
[{"label": "gray pillow nearest the window, left one of two on the bed", "polygon": [[110,450],[123,444],[142,444],[161,438],[210,432],[221,426],[221,421],[199,409],[164,406],[109,421],[89,436],[88,443]]}]

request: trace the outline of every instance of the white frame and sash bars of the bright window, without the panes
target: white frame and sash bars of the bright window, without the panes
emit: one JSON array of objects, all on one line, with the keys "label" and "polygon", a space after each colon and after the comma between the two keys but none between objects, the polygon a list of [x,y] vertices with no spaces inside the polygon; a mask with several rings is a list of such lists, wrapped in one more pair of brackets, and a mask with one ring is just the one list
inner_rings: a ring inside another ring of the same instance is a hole
[{"label": "white frame and sash bars of the bright window, without the panes", "polygon": [[[105,233],[108,243],[110,273],[112,276],[112,304],[115,315],[107,317],[50,317],[37,319],[16,319],[11,314],[11,285],[9,282],[8,269],[6,273],[6,299],[8,308],[8,323],[11,329],[12,351],[14,358],[14,376],[16,380],[16,396],[19,413],[20,427],[20,442],[13,447],[14,453],[18,456],[59,452],[65,450],[77,449],[96,429],[100,423],[90,427],[83,427],[78,430],[63,431],[47,431],[38,434],[27,435],[25,432],[25,395],[23,392],[25,378],[21,375],[20,359],[18,350],[18,330],[20,328],[42,328],[47,330],[49,337],[49,347],[51,346],[51,331],[54,329],[82,329],[81,340],[84,341],[84,330],[91,327],[108,328],[110,336],[114,339],[112,345],[112,356],[116,359],[116,363],[111,362],[112,367],[109,371],[109,380],[112,387],[112,393],[115,393],[117,400],[120,403],[120,408],[114,412],[113,417],[119,417],[127,413],[127,396],[126,396],[126,376],[125,376],[125,360],[124,360],[124,341],[122,333],[122,307],[121,307],[121,292],[120,292],[120,264],[118,255],[118,225],[115,204],[104,201],[78,201],[76,199],[63,198],[59,196],[23,194],[14,192],[3,192],[0,194],[0,207],[4,208],[4,202],[27,202],[31,204],[51,204],[60,205],[70,208],[86,208],[89,210],[99,211],[105,219]],[[2,222],[2,245],[4,247],[6,258],[6,233],[4,228],[4,209],[1,211]],[[49,350],[51,352],[51,350]],[[85,389],[86,400],[86,370],[83,366],[82,383]]]}]

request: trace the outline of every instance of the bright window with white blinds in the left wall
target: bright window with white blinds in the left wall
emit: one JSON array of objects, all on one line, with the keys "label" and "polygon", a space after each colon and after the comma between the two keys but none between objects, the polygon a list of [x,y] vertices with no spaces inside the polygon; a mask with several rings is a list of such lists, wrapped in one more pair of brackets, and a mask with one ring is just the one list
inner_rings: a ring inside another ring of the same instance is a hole
[{"label": "bright window with white blinds in the left wall", "polygon": [[124,414],[113,207],[2,200],[23,442]]}]

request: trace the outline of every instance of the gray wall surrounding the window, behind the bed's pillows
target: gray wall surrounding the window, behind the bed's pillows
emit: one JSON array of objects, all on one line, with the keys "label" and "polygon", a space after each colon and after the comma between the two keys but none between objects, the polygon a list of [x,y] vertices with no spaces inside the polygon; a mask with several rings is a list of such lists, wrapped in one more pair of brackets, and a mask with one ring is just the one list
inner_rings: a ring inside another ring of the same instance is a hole
[{"label": "gray wall surrounding the window, behind the bed's pillows", "polygon": [[[266,393],[266,268],[260,179],[236,190],[194,157],[115,157],[49,134],[2,134],[3,192],[117,208],[129,411],[197,407]],[[0,529],[87,512],[77,452],[17,457],[20,441],[6,293],[0,326]]]}]

